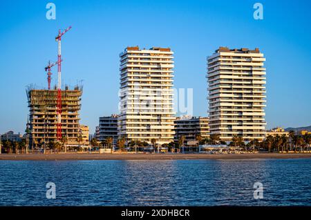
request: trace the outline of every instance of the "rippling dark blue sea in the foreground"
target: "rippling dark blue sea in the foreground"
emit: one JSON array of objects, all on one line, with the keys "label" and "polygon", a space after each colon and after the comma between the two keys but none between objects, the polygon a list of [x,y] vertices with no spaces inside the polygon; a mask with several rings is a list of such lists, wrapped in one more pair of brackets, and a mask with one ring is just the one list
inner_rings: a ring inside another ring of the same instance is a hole
[{"label": "rippling dark blue sea in the foreground", "polygon": [[219,205],[311,206],[311,159],[0,161],[0,206]]}]

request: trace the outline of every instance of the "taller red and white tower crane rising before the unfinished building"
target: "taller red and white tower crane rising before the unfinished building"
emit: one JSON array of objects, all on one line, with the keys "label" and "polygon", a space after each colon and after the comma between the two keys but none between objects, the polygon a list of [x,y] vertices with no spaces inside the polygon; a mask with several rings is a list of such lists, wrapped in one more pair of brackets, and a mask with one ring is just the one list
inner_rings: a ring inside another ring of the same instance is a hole
[{"label": "taller red and white tower crane rising before the unfinished building", "polygon": [[63,32],[59,29],[55,41],[58,42],[57,67],[58,67],[58,83],[57,83],[57,140],[62,139],[62,36],[71,29],[71,26]]}]

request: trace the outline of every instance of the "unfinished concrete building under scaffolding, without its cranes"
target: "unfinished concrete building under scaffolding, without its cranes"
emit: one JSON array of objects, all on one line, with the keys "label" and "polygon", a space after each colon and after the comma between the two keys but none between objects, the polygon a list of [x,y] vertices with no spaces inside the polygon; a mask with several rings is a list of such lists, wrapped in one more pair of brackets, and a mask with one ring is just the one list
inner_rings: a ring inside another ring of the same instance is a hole
[{"label": "unfinished concrete building under scaffolding, without its cranes", "polygon": [[[57,88],[54,90],[26,90],[29,107],[30,146],[43,148],[44,143],[57,141]],[[77,146],[82,131],[79,125],[82,86],[62,90],[62,141],[67,146]]]}]

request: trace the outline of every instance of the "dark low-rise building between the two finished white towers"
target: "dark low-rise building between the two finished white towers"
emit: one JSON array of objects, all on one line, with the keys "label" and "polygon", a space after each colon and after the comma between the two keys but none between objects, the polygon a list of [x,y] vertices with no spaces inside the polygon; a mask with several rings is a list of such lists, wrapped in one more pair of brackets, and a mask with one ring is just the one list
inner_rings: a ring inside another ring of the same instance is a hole
[{"label": "dark low-rise building between the two finished white towers", "polygon": [[175,136],[174,141],[180,137],[185,137],[185,144],[193,146],[198,143],[196,136],[200,135],[202,139],[209,137],[209,118],[208,117],[178,117],[174,121]]}]

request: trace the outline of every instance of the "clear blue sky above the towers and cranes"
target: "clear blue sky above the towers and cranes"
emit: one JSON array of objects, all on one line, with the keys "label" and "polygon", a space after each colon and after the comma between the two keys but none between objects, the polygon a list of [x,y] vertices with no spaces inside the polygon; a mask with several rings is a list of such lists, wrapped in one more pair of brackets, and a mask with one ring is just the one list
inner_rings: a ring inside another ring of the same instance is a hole
[{"label": "clear blue sky above the towers and cranes", "polygon": [[[46,19],[46,3],[56,19]],[[263,20],[253,18],[263,3]],[[0,1],[0,133],[25,130],[26,86],[47,86],[44,67],[62,41],[63,83],[83,80],[81,123],[118,112],[119,54],[170,47],[176,88],[194,89],[207,116],[206,58],[218,46],[259,48],[267,61],[267,128],[311,125],[311,1]],[[57,68],[53,69],[53,84]]]}]

